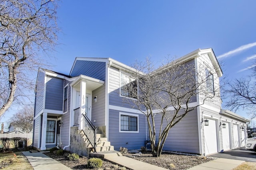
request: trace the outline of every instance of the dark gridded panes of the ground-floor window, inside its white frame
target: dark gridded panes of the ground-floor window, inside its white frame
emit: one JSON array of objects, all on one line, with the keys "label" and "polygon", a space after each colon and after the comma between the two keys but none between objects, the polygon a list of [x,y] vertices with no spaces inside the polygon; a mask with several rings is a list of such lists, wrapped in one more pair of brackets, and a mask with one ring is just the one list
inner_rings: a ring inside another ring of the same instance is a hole
[{"label": "dark gridded panes of the ground-floor window, inside its white frame", "polygon": [[138,116],[120,115],[121,131],[138,131]]}]

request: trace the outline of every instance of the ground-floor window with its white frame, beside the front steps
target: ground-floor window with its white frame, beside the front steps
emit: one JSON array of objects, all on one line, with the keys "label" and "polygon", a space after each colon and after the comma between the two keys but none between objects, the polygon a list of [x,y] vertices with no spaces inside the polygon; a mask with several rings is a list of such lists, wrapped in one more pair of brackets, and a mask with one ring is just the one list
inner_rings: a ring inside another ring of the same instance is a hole
[{"label": "ground-floor window with its white frame, beside the front steps", "polygon": [[131,113],[119,113],[119,132],[138,133],[139,115]]}]

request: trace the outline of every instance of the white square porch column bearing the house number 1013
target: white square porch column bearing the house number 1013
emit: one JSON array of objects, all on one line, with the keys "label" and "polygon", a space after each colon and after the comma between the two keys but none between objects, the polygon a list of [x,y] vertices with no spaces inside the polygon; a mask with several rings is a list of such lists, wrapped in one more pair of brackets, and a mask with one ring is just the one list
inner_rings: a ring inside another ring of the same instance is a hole
[{"label": "white square porch column bearing the house number 1013", "polygon": [[86,105],[86,81],[81,80],[80,81],[80,96],[81,96],[81,108],[80,108],[80,123],[79,123],[79,129],[83,129],[84,125],[84,119],[82,114],[85,114],[85,105]]}]

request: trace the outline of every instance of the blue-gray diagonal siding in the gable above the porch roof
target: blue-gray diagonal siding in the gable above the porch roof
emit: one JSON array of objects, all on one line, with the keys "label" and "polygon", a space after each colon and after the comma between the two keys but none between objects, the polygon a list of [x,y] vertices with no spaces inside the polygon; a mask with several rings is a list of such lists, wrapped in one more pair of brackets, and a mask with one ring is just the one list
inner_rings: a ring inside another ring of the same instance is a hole
[{"label": "blue-gray diagonal siding in the gable above the porch roof", "polygon": [[70,76],[85,75],[99,80],[105,81],[106,78],[106,63],[98,61],[82,61],[77,60]]}]

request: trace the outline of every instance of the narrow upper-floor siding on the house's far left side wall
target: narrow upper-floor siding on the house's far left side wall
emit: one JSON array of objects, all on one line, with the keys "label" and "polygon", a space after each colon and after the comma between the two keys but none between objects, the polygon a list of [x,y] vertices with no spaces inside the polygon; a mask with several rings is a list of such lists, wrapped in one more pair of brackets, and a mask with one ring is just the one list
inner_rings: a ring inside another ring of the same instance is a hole
[{"label": "narrow upper-floor siding on the house's far left side wall", "polygon": [[40,114],[43,109],[44,102],[44,72],[39,71],[37,82],[36,82],[36,94],[35,94],[35,114],[34,116]]}]

